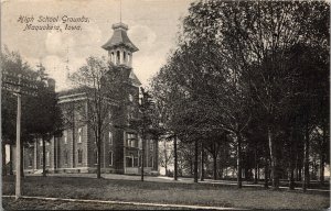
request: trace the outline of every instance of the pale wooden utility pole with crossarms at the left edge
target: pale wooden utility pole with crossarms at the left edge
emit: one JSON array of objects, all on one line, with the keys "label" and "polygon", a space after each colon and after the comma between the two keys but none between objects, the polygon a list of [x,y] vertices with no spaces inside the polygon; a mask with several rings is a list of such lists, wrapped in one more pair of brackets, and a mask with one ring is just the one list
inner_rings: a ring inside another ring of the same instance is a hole
[{"label": "pale wooden utility pole with crossarms at the left edge", "polygon": [[[24,81],[22,81],[24,79]],[[15,158],[15,199],[21,197],[22,178],[21,178],[21,95],[36,96],[36,86],[30,84],[33,81],[31,77],[21,74],[10,74],[2,71],[2,89],[13,92],[18,97],[18,114],[17,114],[17,158]]]}]

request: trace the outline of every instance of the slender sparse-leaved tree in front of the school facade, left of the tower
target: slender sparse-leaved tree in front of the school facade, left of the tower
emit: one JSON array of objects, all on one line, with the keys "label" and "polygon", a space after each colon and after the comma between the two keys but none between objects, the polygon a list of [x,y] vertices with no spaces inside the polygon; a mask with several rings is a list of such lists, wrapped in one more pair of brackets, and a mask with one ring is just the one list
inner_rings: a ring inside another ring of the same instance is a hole
[{"label": "slender sparse-leaved tree in front of the school facade, left of the tower", "polygon": [[[117,100],[120,90],[114,89],[119,85],[120,74],[105,58],[88,57],[86,65],[82,66],[71,77],[74,85],[85,92],[87,97],[87,111],[83,110],[82,122],[92,129],[97,146],[97,178],[102,178],[102,144],[107,125],[110,123],[109,111],[111,100]],[[115,91],[113,96],[110,92]]]}]

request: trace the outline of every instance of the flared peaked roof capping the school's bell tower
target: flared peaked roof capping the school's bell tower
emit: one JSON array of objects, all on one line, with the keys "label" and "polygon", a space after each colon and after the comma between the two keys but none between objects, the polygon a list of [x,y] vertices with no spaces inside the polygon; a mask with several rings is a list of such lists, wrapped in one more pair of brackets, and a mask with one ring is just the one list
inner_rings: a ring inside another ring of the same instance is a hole
[{"label": "flared peaked roof capping the school's bell tower", "polygon": [[126,46],[130,48],[132,52],[137,52],[138,47],[134,45],[134,43],[129,40],[127,35],[128,25],[124,23],[116,23],[113,24],[114,34],[111,38],[103,45],[104,49],[113,49],[118,46]]}]

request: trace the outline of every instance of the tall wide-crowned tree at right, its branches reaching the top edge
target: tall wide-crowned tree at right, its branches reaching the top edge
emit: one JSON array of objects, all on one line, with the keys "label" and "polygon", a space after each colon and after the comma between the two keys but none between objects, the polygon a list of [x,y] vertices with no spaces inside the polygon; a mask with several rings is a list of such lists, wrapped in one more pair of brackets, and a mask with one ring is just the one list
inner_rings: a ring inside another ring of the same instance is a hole
[{"label": "tall wide-crowned tree at right, its branches reaching the top edge", "polygon": [[[193,3],[184,20],[184,40],[218,44],[217,54],[244,76],[241,80],[248,79],[244,89],[249,88],[248,96],[258,102],[265,118],[275,188],[279,186],[277,152],[282,145],[275,141],[277,124],[295,95],[291,81],[296,81],[296,71],[284,65],[290,58],[287,52],[301,42],[318,45],[318,40],[328,35],[328,11],[323,2],[206,1]],[[328,41],[320,43],[327,45]]]}]

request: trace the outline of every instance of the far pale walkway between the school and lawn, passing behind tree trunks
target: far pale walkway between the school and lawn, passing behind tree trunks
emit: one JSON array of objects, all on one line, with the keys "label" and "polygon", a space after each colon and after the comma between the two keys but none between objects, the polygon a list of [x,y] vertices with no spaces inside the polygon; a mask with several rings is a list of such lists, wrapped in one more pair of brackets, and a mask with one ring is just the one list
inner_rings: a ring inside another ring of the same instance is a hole
[{"label": "far pale walkway between the school and lawn, passing behind tree trunks", "polygon": [[[41,176],[41,174],[33,174],[26,176]],[[47,176],[55,176],[55,177],[85,177],[85,178],[96,178],[96,174],[47,174]],[[140,181],[141,176],[139,175],[117,175],[117,174],[102,174],[102,177],[105,179],[124,179],[124,180],[134,180]],[[180,184],[194,184],[193,178],[183,178],[179,177],[178,180],[173,180],[172,177],[166,176],[143,176],[145,181],[153,181],[153,182],[180,182]],[[204,181],[200,181],[199,184],[212,184],[212,185],[227,185],[227,186],[236,186],[237,182],[234,180],[213,180],[213,179],[205,179]],[[261,184],[248,184],[247,181],[243,181],[243,187],[259,187],[263,188],[264,185]],[[288,187],[280,187],[280,189],[288,189]],[[296,187],[295,190],[302,190],[302,188]],[[307,189],[308,191],[317,191],[317,192],[330,192],[330,189]]]}]

